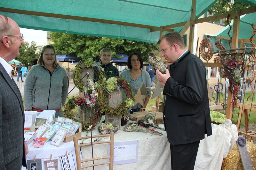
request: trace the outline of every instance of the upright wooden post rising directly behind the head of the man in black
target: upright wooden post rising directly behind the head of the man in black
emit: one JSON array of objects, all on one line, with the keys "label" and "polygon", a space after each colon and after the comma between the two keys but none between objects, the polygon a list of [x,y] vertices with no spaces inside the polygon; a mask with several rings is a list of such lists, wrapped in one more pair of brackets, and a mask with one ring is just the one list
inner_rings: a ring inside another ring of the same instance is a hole
[{"label": "upright wooden post rising directly behind the head of the man in black", "polygon": [[192,0],[191,16],[190,16],[190,23],[189,23],[190,24],[189,40],[188,40],[188,50],[190,51],[190,53],[193,53],[195,18],[196,18],[196,0]]}]

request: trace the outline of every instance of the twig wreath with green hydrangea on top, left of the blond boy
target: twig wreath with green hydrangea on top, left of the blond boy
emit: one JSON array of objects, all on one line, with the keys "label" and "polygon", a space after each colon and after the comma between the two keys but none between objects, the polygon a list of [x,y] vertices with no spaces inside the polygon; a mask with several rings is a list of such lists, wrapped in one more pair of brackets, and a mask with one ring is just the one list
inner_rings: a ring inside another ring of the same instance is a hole
[{"label": "twig wreath with green hydrangea on top, left of the blond boy", "polygon": [[[102,64],[99,61],[93,61],[91,58],[80,60],[76,65],[74,74],[73,74],[73,82],[76,85],[81,80],[82,67],[92,68],[92,74],[94,71],[97,71],[99,75],[99,79],[97,80],[100,84],[106,80],[106,75],[104,68],[101,67]],[[92,75],[93,77],[93,75]],[[84,81],[80,81],[76,86],[80,91],[84,90]]]}]

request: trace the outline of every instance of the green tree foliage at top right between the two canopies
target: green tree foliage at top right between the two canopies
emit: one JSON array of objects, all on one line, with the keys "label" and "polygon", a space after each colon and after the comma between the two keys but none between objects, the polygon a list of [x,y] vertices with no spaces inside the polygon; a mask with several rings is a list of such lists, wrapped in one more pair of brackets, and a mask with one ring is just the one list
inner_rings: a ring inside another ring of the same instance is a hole
[{"label": "green tree foliage at top right between the two canopies", "polygon": [[[209,14],[212,15],[217,15],[221,13],[226,13],[228,11],[235,11],[236,9],[244,9],[251,7],[251,5],[247,5],[238,1],[234,0],[234,3],[231,3],[231,0],[219,0],[217,1],[212,8],[208,10]],[[231,23],[233,18],[229,19],[229,23]],[[228,23],[224,22],[225,25],[227,26]]]}]

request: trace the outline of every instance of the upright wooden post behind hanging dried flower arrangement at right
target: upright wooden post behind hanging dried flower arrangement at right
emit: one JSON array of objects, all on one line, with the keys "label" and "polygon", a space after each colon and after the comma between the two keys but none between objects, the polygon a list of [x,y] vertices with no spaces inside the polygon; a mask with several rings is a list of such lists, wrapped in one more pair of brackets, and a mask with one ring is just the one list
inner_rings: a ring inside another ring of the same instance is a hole
[{"label": "upright wooden post behind hanging dried flower arrangement at right", "polygon": [[[240,12],[239,10],[236,10],[236,14],[234,17],[234,24],[233,24],[232,48],[238,48],[239,22],[240,22]],[[236,51],[233,51],[233,52],[236,52]],[[230,92],[230,90],[228,90],[226,118],[229,120],[232,119],[232,99],[233,99],[233,94]]]}]

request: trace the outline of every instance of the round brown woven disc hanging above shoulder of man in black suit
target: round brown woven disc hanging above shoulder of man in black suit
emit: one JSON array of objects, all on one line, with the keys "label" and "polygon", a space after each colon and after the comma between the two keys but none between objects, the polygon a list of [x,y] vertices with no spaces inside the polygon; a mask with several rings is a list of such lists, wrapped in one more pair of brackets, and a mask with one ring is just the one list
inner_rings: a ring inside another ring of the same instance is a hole
[{"label": "round brown woven disc hanging above shoulder of man in black suit", "polygon": [[204,38],[200,43],[199,51],[204,60],[206,61],[211,60],[212,58],[211,53],[213,52],[212,42],[208,38]]}]

